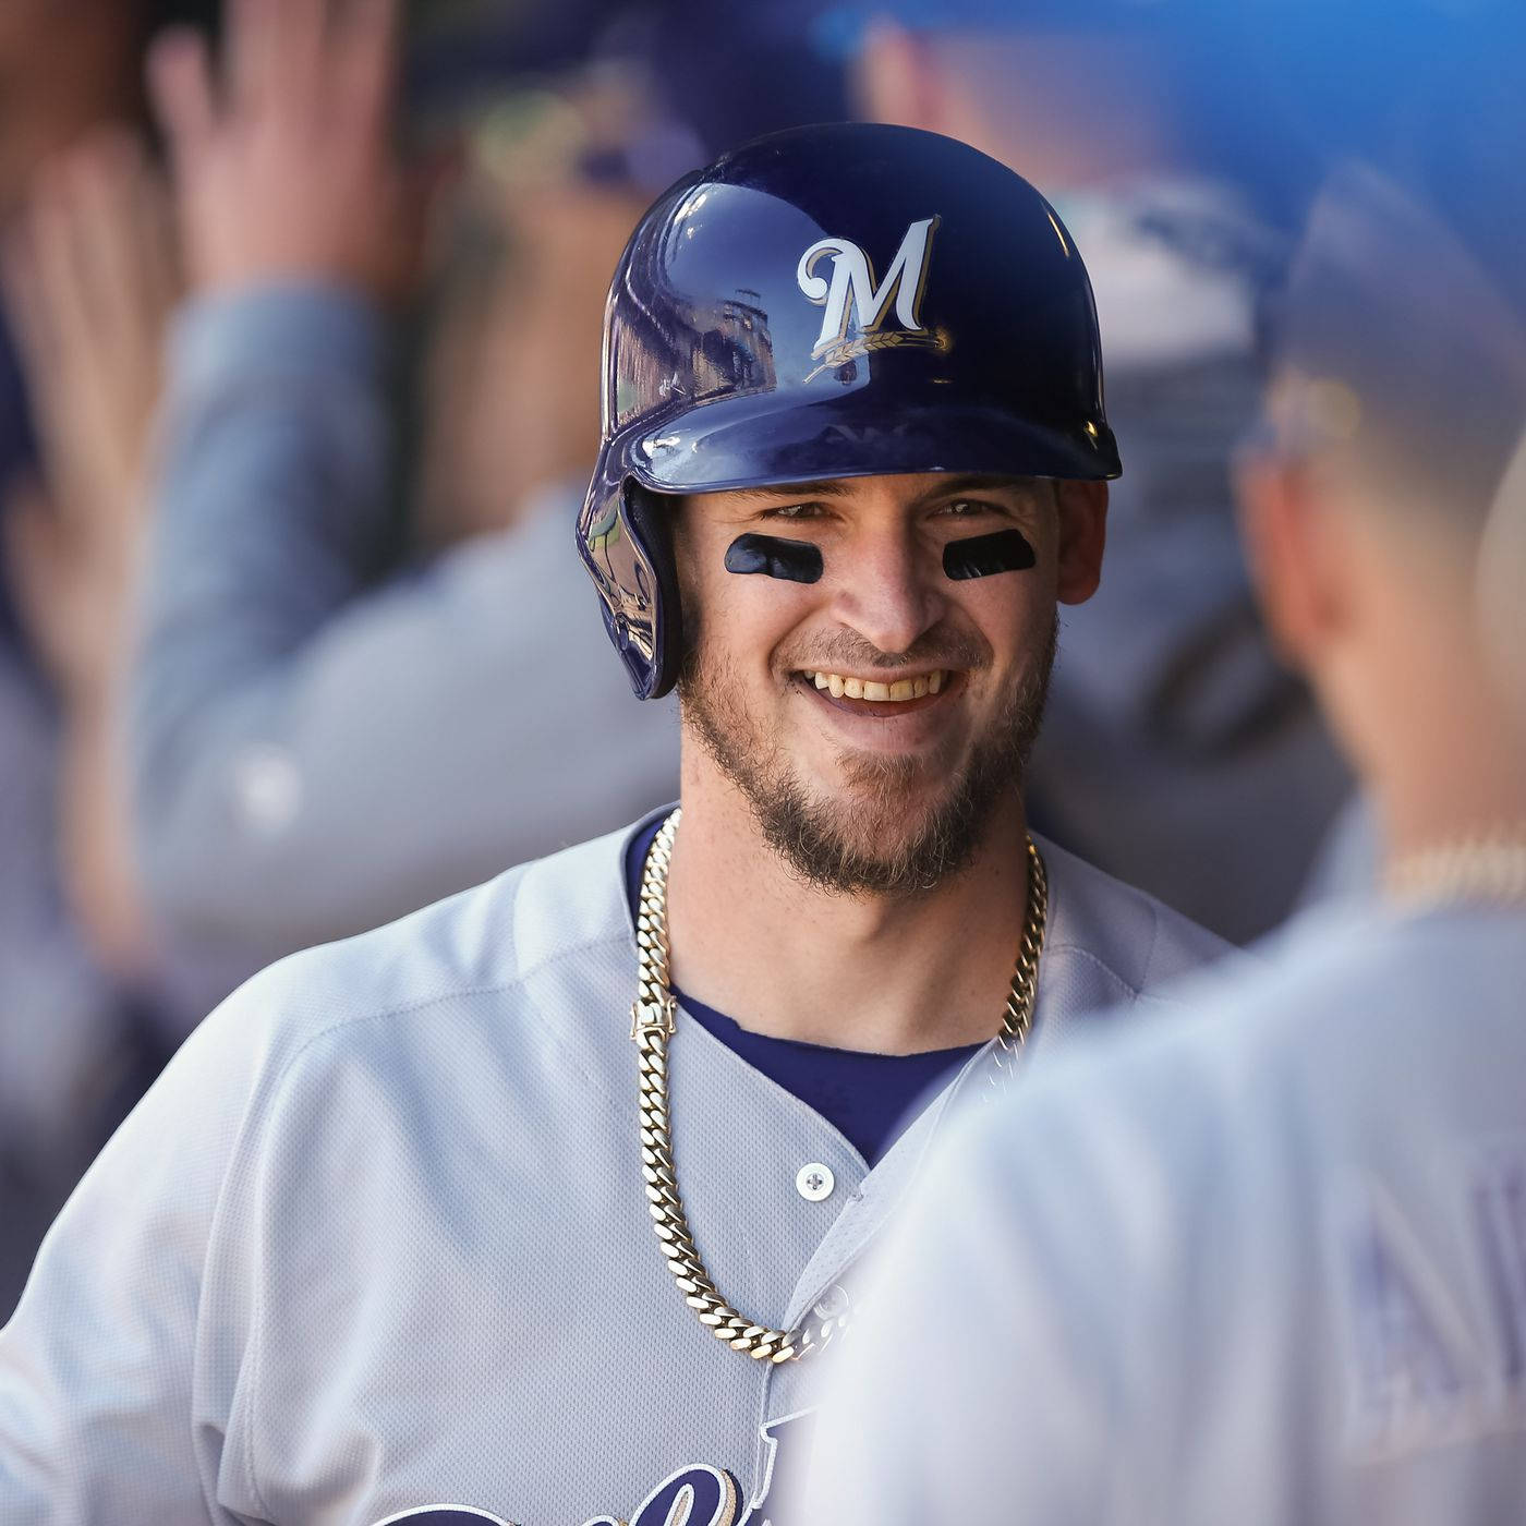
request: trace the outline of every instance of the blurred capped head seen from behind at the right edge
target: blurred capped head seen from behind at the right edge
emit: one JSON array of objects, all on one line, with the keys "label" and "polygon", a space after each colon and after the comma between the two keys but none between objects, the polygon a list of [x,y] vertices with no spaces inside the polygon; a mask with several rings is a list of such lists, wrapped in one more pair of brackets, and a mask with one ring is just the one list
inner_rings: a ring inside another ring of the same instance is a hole
[{"label": "blurred capped head seen from behind at the right edge", "polygon": [[1526,826],[1526,69],[1479,41],[1317,198],[1242,468],[1268,620],[1396,853]]}]

